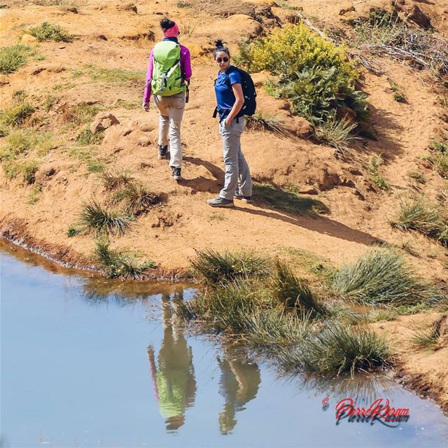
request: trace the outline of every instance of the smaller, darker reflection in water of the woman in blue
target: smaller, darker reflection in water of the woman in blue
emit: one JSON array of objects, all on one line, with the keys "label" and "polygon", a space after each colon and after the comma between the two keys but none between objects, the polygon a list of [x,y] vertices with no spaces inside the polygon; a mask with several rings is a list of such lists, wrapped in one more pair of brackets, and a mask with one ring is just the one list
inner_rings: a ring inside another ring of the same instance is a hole
[{"label": "smaller, darker reflection in water of the woman in blue", "polygon": [[253,400],[260,384],[258,365],[244,363],[239,360],[221,360],[221,381],[219,393],[225,398],[224,409],[219,414],[221,433],[229,433],[237,424],[235,412],[245,409],[244,405]]}]

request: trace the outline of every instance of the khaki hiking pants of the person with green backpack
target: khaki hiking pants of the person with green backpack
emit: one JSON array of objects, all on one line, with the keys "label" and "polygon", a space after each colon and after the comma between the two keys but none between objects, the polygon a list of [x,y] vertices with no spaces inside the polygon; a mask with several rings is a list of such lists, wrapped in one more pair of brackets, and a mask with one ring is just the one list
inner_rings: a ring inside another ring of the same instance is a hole
[{"label": "khaki hiking pants of the person with green backpack", "polygon": [[159,145],[167,146],[169,134],[169,166],[180,168],[182,165],[181,123],[185,109],[185,93],[172,97],[154,95],[155,105],[160,111]]}]

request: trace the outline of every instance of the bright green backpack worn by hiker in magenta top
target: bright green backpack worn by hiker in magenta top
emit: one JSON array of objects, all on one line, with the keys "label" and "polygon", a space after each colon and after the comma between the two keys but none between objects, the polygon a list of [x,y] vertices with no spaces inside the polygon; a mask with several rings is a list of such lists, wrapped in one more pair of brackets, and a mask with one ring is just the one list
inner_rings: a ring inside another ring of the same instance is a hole
[{"label": "bright green backpack worn by hiker in magenta top", "polygon": [[153,55],[151,87],[154,94],[171,97],[185,92],[186,86],[181,72],[181,45],[173,41],[156,43]]}]

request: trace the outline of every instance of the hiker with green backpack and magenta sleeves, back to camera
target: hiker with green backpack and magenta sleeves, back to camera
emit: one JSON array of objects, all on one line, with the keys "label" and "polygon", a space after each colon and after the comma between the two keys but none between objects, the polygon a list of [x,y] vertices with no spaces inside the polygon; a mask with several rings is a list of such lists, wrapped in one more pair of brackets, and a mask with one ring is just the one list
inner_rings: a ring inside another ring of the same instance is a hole
[{"label": "hiker with green backpack and magenta sleeves, back to camera", "polygon": [[[149,55],[143,108],[149,110],[151,92],[160,111],[159,158],[167,158],[169,134],[169,166],[172,178],[181,180],[181,122],[186,104],[186,83],[191,78],[190,50],[179,44],[179,27],[172,20],[160,21],[163,40],[155,44]],[[188,101],[188,100],[187,100]]]}]

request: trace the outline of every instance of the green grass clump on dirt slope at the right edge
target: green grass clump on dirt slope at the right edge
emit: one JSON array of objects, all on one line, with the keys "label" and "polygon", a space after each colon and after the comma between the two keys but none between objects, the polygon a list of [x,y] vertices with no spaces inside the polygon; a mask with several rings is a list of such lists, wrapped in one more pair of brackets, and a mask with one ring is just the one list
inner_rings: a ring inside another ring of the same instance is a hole
[{"label": "green grass clump on dirt slope at the right edge", "polygon": [[448,213],[423,197],[402,201],[395,216],[389,221],[399,230],[416,230],[427,237],[437,239],[448,246]]}]

